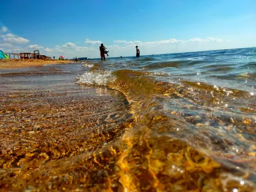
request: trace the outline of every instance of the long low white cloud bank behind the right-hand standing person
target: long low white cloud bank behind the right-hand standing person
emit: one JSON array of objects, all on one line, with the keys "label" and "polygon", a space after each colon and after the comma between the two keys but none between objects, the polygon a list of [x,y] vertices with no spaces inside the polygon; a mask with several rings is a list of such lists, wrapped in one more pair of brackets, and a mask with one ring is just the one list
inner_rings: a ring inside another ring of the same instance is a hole
[{"label": "long low white cloud bank behind the right-hand standing person", "polygon": [[140,47],[142,55],[150,54],[164,54],[172,52],[189,52],[189,51],[203,51],[228,48],[227,44],[224,44],[223,39],[220,38],[191,38],[188,40],[180,40],[175,38],[170,38],[167,40],[159,40],[152,42],[141,42],[127,41],[127,40],[114,40],[114,45],[106,45],[109,48],[109,55],[111,56],[131,56],[135,53],[135,46]]}]

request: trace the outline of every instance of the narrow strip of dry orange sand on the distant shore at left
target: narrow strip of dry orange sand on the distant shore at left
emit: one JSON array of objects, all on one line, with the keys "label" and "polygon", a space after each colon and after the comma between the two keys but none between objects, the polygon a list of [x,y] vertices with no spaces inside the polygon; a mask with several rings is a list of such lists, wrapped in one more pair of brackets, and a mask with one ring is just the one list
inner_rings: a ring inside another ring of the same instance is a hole
[{"label": "narrow strip of dry orange sand on the distant shore at left", "polygon": [[26,68],[33,66],[42,66],[49,64],[60,64],[60,63],[71,63],[70,60],[20,60],[20,59],[9,59],[0,60],[0,69],[10,69],[10,68]]}]

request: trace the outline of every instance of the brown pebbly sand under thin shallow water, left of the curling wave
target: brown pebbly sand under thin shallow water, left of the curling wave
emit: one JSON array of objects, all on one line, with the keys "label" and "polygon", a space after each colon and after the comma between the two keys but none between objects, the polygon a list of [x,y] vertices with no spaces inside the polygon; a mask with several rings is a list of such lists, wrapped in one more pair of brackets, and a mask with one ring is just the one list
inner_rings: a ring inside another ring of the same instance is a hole
[{"label": "brown pebbly sand under thin shallow water, left of the curling wave", "polygon": [[93,154],[122,136],[131,115],[120,93],[96,91],[1,94],[2,189],[76,189],[82,183],[84,189],[102,182],[94,176],[102,168]]}]

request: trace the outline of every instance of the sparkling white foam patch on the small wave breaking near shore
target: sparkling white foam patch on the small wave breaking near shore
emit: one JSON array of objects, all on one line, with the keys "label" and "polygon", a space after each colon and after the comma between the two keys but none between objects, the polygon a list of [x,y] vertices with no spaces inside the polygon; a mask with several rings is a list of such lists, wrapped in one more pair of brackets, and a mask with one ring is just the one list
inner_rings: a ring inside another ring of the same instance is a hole
[{"label": "sparkling white foam patch on the small wave breaking near shore", "polygon": [[106,86],[108,83],[116,80],[111,71],[95,70],[92,72],[84,72],[83,75],[77,76],[78,84],[96,84]]}]

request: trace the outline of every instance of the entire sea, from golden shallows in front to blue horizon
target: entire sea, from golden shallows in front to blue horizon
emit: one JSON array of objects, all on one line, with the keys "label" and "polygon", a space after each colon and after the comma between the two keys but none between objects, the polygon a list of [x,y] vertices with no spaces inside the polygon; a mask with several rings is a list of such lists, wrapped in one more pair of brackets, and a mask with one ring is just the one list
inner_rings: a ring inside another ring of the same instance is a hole
[{"label": "entire sea, from golden shallows in front to blue horizon", "polygon": [[7,191],[256,191],[256,47],[0,70],[0,86]]}]

